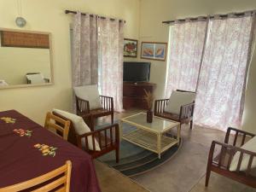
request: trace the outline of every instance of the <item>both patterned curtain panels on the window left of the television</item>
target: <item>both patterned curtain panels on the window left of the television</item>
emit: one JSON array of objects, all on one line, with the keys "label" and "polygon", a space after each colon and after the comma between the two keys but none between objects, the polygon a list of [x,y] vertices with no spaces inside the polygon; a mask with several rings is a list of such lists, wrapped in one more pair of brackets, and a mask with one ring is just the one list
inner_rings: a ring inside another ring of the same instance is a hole
[{"label": "both patterned curtain panels on the window left of the television", "polygon": [[124,21],[97,15],[73,18],[73,86],[100,83],[102,95],[113,96],[117,111],[123,108],[123,28]]}]

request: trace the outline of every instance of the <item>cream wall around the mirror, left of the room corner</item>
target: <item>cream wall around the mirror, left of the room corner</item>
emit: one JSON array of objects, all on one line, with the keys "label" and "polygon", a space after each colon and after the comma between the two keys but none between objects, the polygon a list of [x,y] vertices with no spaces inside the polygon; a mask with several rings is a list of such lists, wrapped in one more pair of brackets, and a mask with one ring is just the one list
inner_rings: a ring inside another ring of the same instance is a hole
[{"label": "cream wall around the mirror, left of the room corner", "polygon": [[[16,0],[0,1],[0,27],[15,26]],[[138,38],[139,2],[137,0],[22,0],[26,30],[51,32],[53,38],[53,68],[55,84],[44,87],[0,90],[0,111],[16,109],[20,113],[44,122],[52,108],[71,110],[71,62],[69,25],[72,15],[65,9],[80,10],[126,20],[125,37]],[[1,70],[1,69],[0,69]]]}]

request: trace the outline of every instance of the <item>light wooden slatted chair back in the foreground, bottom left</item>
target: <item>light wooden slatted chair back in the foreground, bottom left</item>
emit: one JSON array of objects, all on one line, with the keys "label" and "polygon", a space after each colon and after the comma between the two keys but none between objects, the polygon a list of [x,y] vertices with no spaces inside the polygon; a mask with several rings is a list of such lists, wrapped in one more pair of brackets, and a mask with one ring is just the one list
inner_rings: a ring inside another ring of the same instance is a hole
[{"label": "light wooden slatted chair back in the foreground, bottom left", "polygon": [[[70,160],[67,160],[64,166],[61,166],[42,176],[32,178],[26,182],[17,183],[8,187],[4,187],[0,189],[0,192],[15,192],[25,189],[31,189],[32,187],[35,187],[39,184],[40,185],[38,189],[32,188],[32,190],[29,191],[39,192],[52,191],[53,189],[57,189],[55,191],[69,192],[71,169],[72,163]],[[57,178],[53,180],[55,177]]]}]

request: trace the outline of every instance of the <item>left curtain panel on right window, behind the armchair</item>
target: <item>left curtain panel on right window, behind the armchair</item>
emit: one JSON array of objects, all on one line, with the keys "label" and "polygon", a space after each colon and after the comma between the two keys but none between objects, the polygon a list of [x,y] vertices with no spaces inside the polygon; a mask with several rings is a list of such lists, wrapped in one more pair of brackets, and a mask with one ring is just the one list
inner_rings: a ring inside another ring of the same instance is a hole
[{"label": "left curtain panel on right window, behind the armchair", "polygon": [[195,91],[207,21],[175,23],[170,26],[166,97],[172,90]]}]

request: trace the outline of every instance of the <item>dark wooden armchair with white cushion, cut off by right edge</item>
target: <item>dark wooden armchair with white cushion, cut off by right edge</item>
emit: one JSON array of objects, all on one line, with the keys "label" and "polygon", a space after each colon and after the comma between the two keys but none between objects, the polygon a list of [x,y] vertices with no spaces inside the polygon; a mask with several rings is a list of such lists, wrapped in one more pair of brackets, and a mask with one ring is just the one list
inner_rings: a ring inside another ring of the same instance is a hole
[{"label": "dark wooden armchair with white cushion, cut off by right edge", "polygon": [[212,141],[208,155],[206,186],[211,172],[217,172],[256,189],[255,134],[229,127],[224,143]]}]

